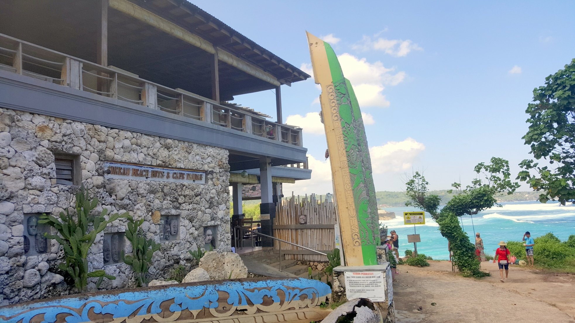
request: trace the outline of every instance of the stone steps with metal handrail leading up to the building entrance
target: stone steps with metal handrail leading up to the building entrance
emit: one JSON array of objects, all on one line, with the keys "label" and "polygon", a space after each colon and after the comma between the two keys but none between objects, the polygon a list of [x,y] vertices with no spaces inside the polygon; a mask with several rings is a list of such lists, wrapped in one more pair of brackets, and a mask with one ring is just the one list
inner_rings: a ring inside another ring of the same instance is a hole
[{"label": "stone steps with metal handrail leading up to the building entrance", "polygon": [[[308,267],[305,264],[297,264],[298,260],[285,259],[282,255],[282,271],[279,271],[279,254],[273,253],[273,248],[266,247],[261,250],[246,252],[240,254],[241,259],[248,267],[248,273],[262,275],[267,277],[302,277],[308,278]],[[312,271],[316,277],[324,277],[323,271]]]}]

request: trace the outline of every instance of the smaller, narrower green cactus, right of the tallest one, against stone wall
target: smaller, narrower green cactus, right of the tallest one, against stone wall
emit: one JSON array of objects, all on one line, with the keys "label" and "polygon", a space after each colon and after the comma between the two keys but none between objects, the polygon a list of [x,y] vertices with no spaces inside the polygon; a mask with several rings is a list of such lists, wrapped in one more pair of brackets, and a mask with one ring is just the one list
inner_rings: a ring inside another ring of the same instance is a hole
[{"label": "smaller, narrower green cactus, right of the tallest one, against stone wall", "polygon": [[132,243],[132,255],[124,255],[124,262],[132,266],[136,273],[136,283],[138,287],[148,286],[148,266],[152,262],[154,252],[160,250],[160,244],[154,240],[146,239],[143,232],[140,231],[140,225],[144,219],[135,220],[131,215],[128,216],[128,231],[126,238]]}]

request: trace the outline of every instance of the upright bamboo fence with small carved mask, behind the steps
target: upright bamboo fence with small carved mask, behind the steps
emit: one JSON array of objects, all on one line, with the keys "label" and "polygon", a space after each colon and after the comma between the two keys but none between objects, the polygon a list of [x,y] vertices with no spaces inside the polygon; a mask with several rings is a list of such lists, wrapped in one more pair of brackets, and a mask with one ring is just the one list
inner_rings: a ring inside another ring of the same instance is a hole
[{"label": "upright bamboo fence with small carved mask, behind the steps", "polygon": [[[300,224],[300,216],[306,216],[306,224]],[[323,201],[315,194],[308,197],[292,197],[282,199],[277,207],[274,220],[274,236],[300,246],[327,253],[335,248],[334,225],[336,223],[336,208],[332,202]],[[278,241],[274,241],[274,249],[279,250]],[[285,259],[295,259],[313,262],[325,262],[327,257],[311,251],[281,243]],[[290,253],[290,251],[292,251]]]}]

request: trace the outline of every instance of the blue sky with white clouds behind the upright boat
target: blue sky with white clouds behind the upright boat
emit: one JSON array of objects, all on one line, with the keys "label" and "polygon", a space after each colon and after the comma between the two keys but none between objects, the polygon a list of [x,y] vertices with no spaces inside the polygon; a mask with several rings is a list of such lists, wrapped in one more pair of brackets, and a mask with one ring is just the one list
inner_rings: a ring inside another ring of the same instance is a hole
[{"label": "blue sky with white clouds behind the upright boat", "polygon": [[[412,169],[431,189],[465,185],[492,156],[515,175],[530,157],[521,137],[532,90],[575,57],[569,1],[194,3],[296,67],[309,68],[305,30],[331,42],[369,114],[377,190],[403,189]],[[313,168],[312,180],[286,185],[296,194],[331,191],[319,94],[312,79],[282,86],[284,121],[304,127]],[[236,102],[275,115],[273,91]]]}]

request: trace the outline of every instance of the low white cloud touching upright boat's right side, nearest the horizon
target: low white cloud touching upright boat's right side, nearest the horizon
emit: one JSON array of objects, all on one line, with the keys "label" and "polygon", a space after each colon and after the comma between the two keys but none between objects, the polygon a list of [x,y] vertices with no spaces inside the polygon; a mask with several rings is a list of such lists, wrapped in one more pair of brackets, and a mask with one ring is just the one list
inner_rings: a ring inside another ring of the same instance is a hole
[{"label": "low white cloud touching upright boat's right side, nearest the horizon", "polygon": [[425,150],[423,143],[407,138],[404,141],[390,141],[369,149],[371,169],[375,174],[404,172],[412,167],[413,159]]}]

